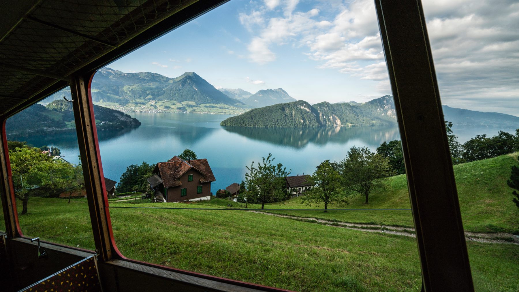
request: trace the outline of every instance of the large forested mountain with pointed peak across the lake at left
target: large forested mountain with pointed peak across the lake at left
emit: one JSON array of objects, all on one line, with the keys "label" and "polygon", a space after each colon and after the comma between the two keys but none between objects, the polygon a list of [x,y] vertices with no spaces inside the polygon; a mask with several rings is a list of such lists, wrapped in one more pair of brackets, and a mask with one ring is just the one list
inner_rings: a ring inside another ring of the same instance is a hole
[{"label": "large forested mountain with pointed peak across the lake at left", "polygon": [[[194,72],[169,78],[157,73],[124,73],[102,68],[92,80],[92,101],[96,104],[128,108],[177,109],[247,108],[242,102],[229,98]],[[64,89],[47,98],[44,103],[70,96]],[[204,106],[206,105],[206,106]],[[250,107],[249,107],[250,108]]]}]

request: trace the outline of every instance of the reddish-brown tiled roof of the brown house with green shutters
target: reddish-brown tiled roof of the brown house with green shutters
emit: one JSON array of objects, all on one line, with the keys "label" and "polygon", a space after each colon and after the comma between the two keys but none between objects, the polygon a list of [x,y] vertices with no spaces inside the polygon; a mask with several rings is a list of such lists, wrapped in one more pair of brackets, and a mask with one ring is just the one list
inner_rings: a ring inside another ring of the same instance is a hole
[{"label": "reddish-brown tiled roof of the brown house with green shutters", "polygon": [[207,159],[195,159],[188,163],[174,156],[168,162],[157,163],[157,168],[165,188],[182,186],[179,178],[192,168],[202,174],[200,183],[214,182],[216,180]]}]

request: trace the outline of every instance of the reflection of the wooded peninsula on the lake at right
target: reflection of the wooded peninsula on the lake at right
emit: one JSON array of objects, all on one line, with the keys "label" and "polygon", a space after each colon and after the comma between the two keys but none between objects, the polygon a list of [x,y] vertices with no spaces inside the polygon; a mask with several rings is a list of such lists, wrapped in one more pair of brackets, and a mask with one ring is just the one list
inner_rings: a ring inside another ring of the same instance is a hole
[{"label": "reflection of the wooded peninsula on the lake at right", "polygon": [[400,140],[397,127],[321,127],[321,128],[253,128],[222,127],[252,140],[279,146],[304,148],[309,143],[344,144],[350,140],[362,140],[365,144],[377,145],[381,141]]}]

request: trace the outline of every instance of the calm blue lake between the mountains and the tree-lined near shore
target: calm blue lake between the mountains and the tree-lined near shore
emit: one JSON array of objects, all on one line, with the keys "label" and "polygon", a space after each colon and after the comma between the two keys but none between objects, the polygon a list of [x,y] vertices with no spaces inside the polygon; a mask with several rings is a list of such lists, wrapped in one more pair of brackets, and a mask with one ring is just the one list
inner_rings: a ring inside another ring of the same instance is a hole
[{"label": "calm blue lake between the mountains and the tree-lined near shore", "polygon": [[[119,181],[130,164],[143,161],[157,163],[179,155],[185,148],[207,158],[216,182],[211,191],[240,183],[245,178],[245,165],[258,162],[269,152],[283,163],[291,175],[311,174],[325,159],[339,161],[352,146],[369,147],[373,151],[384,141],[399,140],[398,127],[374,128],[310,128],[266,129],[222,127],[220,122],[230,115],[189,113],[128,113],[142,125],[134,129],[99,131],[99,147],[104,176]],[[460,143],[477,134],[496,135],[500,129],[455,126]],[[514,133],[515,131],[511,131]],[[9,140],[27,141],[34,146],[54,146],[62,157],[77,163],[79,155],[75,133],[9,136]]]}]

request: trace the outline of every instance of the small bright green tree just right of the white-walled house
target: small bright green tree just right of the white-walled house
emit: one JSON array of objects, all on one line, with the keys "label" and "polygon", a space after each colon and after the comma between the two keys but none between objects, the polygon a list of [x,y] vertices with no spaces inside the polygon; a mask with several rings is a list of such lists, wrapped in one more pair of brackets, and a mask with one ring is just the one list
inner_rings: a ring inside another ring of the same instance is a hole
[{"label": "small bright green tree just right of the white-walled house", "polygon": [[324,203],[324,212],[328,212],[326,211],[328,204],[345,202],[341,181],[342,177],[334,169],[330,160],[324,160],[312,174],[310,183],[313,187],[305,191],[306,194],[301,198],[301,203]]}]

